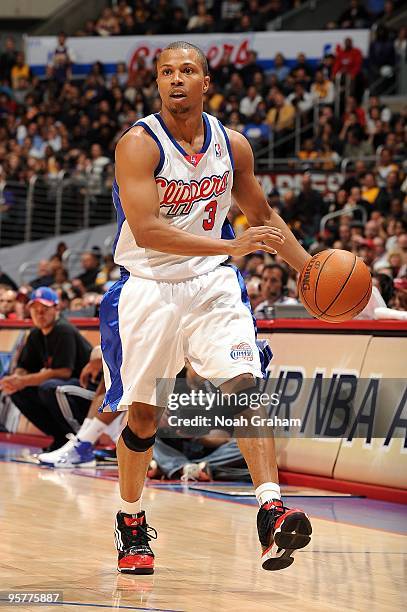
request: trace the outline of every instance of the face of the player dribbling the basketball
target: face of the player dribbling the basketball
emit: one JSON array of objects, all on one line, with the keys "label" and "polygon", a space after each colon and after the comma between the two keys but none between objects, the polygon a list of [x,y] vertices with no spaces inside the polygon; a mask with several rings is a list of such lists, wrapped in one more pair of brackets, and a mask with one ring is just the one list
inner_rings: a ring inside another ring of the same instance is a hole
[{"label": "face of the player dribbling the basketball", "polygon": [[209,81],[193,49],[169,49],[161,53],[157,63],[157,85],[163,106],[170,113],[185,114],[202,108]]}]

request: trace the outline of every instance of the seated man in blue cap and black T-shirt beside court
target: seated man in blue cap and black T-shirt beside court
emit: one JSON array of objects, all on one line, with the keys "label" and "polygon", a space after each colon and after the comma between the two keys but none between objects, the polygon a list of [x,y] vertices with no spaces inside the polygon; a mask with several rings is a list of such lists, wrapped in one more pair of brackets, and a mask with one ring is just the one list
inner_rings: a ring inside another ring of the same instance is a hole
[{"label": "seated man in blue cap and black T-shirt beside court", "polygon": [[79,376],[89,361],[91,345],[70,323],[58,316],[58,296],[39,287],[28,303],[34,329],[29,333],[13,374],[0,380],[20,412],[36,427],[54,437],[49,450],[66,442],[84,420],[89,397],[62,396],[60,389],[80,387]]}]

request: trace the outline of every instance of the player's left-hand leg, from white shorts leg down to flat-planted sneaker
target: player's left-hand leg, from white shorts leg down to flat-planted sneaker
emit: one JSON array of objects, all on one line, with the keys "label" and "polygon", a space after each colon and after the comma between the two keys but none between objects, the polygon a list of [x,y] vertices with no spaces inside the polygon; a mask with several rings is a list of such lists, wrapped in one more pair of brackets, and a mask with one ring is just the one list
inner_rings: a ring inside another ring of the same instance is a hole
[{"label": "player's left-hand leg, from white shorts leg down to flat-planted sneaker", "polygon": [[121,492],[115,536],[118,570],[152,573],[149,546],[156,532],[141,509],[141,493],[159,418],[155,406],[166,406],[177,372],[184,364],[179,334],[182,301],[174,283],[124,275],[105,294],[100,306],[105,410],[127,410],[128,423],[117,444]]}]

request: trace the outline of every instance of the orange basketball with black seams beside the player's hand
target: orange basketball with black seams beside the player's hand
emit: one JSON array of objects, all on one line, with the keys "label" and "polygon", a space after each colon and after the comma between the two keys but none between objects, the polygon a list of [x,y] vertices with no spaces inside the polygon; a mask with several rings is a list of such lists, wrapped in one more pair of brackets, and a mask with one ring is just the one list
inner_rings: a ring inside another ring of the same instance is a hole
[{"label": "orange basketball with black seams beside the player's hand", "polygon": [[314,255],[298,280],[302,303],[317,319],[342,323],[356,317],[372,293],[372,277],[360,257],[329,249]]}]

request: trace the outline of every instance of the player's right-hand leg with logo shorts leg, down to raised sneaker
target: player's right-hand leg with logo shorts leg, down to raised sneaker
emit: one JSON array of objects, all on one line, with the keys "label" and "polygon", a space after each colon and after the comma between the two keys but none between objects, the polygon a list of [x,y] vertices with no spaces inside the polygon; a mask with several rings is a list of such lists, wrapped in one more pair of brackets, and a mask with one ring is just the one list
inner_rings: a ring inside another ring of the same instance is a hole
[{"label": "player's right-hand leg with logo shorts leg, down to raised sneaker", "polygon": [[[186,325],[190,332],[186,357],[200,376],[221,386],[223,392],[238,396],[237,413],[242,405],[251,404],[248,396],[256,394],[258,399],[255,381],[264,374],[247,292],[239,275],[236,269],[227,266],[220,266],[209,274],[203,281],[206,283],[201,291],[203,300],[190,313]],[[239,398],[240,394],[246,397]],[[249,411],[249,427],[252,415]],[[255,432],[247,430],[244,435],[238,431],[236,437],[260,505],[258,533],[263,549],[262,566],[264,569],[288,567],[293,561],[292,550],[309,541],[309,519],[302,511],[283,507],[269,429],[267,432],[258,428]],[[274,541],[278,547],[276,553]]]}]

